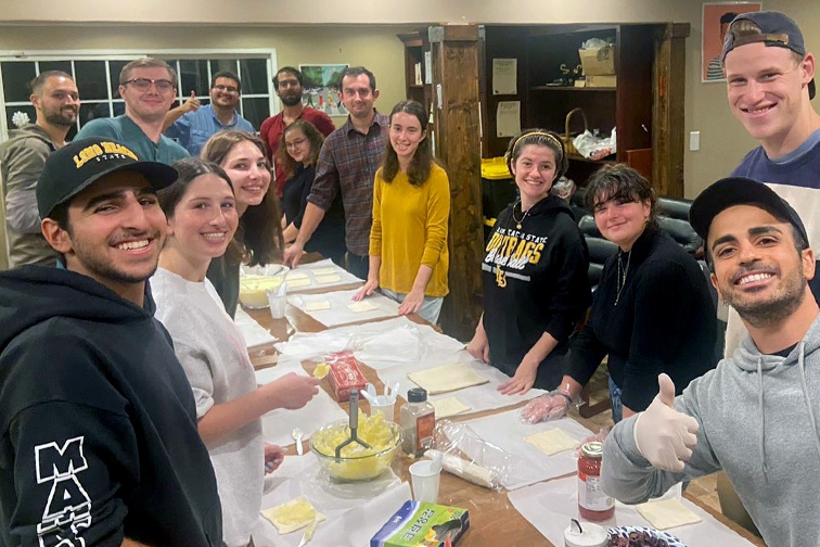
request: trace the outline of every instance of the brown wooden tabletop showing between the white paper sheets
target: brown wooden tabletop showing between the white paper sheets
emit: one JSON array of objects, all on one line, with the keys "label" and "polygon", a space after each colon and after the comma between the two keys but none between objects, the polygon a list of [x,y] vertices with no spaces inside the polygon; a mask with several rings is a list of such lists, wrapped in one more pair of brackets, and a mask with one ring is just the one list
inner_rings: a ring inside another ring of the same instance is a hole
[{"label": "brown wooden tabletop showing between the white paper sheets", "polygon": [[[357,285],[345,285],[342,288],[334,287],[331,290],[349,290],[355,289]],[[321,291],[326,292],[326,291]],[[300,309],[291,304],[285,309],[284,319],[272,319],[268,309],[247,310],[247,313],[256,319],[256,321],[268,329],[279,340],[285,340],[294,332],[319,332],[325,330],[324,326],[316,321],[312,317],[305,314]],[[419,323],[426,323],[424,319],[418,316],[410,316],[411,320]],[[372,322],[372,321],[369,321]],[[251,352],[251,360],[256,368],[267,368],[276,366],[276,349],[272,347],[254,348]],[[316,362],[303,361],[303,367],[312,372],[316,367]],[[382,393],[384,385],[379,380],[379,376],[375,370],[371,369],[367,365],[362,367],[362,372],[372,382],[379,393]],[[331,397],[333,394],[330,390],[328,382],[322,382],[322,389],[328,392]],[[362,400],[362,408],[368,407],[368,402]],[[399,398],[395,406],[395,420],[398,421],[398,409],[403,404],[403,398]],[[502,409],[485,410],[482,412],[470,414],[465,417],[453,417],[452,420],[471,420],[479,418],[482,416],[492,415],[504,410],[510,410],[516,406],[523,406],[525,403],[518,405],[512,405]],[[341,405],[347,410],[347,405]],[[572,418],[594,431],[595,425],[588,419],[581,418],[577,411],[571,410]],[[306,451],[308,447],[305,446]],[[399,475],[402,481],[410,481],[410,472],[408,468],[410,463],[415,461],[413,458],[407,456],[401,449],[398,450],[398,455],[393,462],[393,470]],[[735,531],[741,536],[745,537],[753,545],[765,547],[765,544],[745,529],[725,518],[721,513],[713,510],[712,508],[700,503],[696,498],[687,496],[688,499],[696,504],[705,511],[713,514],[718,521],[726,524],[731,530]],[[459,546],[465,547],[498,547],[499,545],[517,545],[521,547],[529,547],[535,545],[552,546],[543,535],[541,535],[529,521],[527,521],[515,508],[510,499],[507,497],[507,492],[492,492],[488,488],[474,485],[450,473],[441,473],[440,489],[438,496],[438,503],[443,505],[462,507],[470,511],[470,530],[459,542]],[[396,508],[398,509],[398,508]],[[697,546],[690,546],[697,547]]]}]

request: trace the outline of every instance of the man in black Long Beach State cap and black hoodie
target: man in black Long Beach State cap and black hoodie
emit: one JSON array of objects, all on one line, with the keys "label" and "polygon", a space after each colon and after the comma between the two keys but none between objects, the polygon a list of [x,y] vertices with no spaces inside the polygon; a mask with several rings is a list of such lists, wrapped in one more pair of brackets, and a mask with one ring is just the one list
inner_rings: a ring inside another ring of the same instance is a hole
[{"label": "man in black Long Beach State cap and black hoodie", "polygon": [[[0,544],[221,545],[193,395],[145,280],[176,179],[108,139],[37,185],[62,268],[0,274]],[[12,487],[13,485],[13,487]]]}]

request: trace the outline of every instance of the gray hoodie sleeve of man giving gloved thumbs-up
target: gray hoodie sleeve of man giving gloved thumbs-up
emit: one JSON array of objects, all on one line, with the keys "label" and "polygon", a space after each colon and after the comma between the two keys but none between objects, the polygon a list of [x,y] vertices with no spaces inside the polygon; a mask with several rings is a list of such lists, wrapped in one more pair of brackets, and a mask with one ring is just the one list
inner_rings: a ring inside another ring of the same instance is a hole
[{"label": "gray hoodie sleeve of man giving gloved thumbs-up", "polygon": [[638,416],[633,416],[617,423],[604,442],[601,476],[606,494],[625,504],[640,504],[662,496],[679,482],[697,479],[720,469],[697,412],[700,380],[702,378],[693,381],[682,395],[675,398],[675,409],[694,417],[701,424],[697,444],[683,472],[655,469],[641,456],[633,434]]}]

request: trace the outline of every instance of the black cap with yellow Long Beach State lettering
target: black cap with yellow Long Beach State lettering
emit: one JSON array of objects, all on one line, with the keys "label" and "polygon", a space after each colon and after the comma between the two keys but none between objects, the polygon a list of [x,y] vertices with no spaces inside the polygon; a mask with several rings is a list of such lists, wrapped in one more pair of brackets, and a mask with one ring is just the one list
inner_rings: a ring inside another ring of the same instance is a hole
[{"label": "black cap with yellow Long Beach State lettering", "polygon": [[128,147],[112,139],[90,138],[74,141],[52,152],[37,181],[37,208],[47,218],[64,203],[105,175],[117,171],[141,173],[154,190],[174,183],[177,170],[157,162],[143,162]]}]

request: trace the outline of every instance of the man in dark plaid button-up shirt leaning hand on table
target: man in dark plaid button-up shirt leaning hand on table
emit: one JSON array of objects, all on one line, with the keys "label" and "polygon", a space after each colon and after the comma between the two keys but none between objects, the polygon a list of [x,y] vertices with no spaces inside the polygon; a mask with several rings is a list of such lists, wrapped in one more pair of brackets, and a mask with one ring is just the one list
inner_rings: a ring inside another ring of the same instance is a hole
[{"label": "man in dark plaid button-up shirt leaning hand on table", "polygon": [[375,76],[363,66],[342,73],[342,102],[347,122],[328,137],[319,153],[316,180],[308,196],[296,241],[285,250],[284,263],[296,267],[305,243],[310,240],[333,199],[342,192],[347,236],[346,265],[354,276],[367,279],[368,246],[373,221],[373,180],[382,164],[389,119],[379,114]]}]

